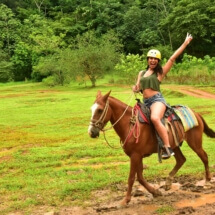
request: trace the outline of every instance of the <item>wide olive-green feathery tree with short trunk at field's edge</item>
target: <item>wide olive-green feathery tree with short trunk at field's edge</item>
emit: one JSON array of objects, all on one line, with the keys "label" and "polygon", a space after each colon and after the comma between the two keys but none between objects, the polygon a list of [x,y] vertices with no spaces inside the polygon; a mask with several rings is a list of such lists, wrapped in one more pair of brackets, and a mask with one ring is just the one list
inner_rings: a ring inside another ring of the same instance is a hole
[{"label": "wide olive-green feathery tree with short trunk at field's edge", "polygon": [[73,79],[88,79],[95,87],[98,78],[113,70],[118,62],[121,45],[113,32],[97,38],[94,31],[77,36],[72,49],[55,49],[40,57],[33,75],[47,77],[49,85],[69,83]]}]

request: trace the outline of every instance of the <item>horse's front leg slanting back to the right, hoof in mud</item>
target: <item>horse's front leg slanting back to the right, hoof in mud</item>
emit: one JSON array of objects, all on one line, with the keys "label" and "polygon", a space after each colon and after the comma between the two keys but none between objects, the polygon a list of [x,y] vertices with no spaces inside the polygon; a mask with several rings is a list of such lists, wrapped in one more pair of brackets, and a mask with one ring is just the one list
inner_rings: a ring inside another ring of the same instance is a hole
[{"label": "horse's front leg slanting back to the right, hoof in mud", "polygon": [[141,162],[138,166],[138,169],[137,169],[137,179],[139,181],[139,183],[141,185],[143,185],[146,190],[148,190],[148,192],[150,192],[154,197],[156,196],[161,196],[162,193],[160,192],[160,190],[158,189],[155,189],[154,187],[152,187],[143,177],[143,163],[142,163],[142,159],[141,159]]}]

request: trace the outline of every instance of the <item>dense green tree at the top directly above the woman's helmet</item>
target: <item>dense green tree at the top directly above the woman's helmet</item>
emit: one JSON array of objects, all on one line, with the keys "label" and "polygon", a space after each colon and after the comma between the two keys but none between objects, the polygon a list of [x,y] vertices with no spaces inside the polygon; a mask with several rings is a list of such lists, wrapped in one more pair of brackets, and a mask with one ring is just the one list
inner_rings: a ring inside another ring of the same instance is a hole
[{"label": "dense green tree at the top directly above the woman's helmet", "polygon": [[164,17],[163,11],[169,8],[168,1],[163,1],[139,0],[128,8],[120,26],[120,35],[127,53],[141,53],[151,46],[168,44],[159,29],[159,22]]}]

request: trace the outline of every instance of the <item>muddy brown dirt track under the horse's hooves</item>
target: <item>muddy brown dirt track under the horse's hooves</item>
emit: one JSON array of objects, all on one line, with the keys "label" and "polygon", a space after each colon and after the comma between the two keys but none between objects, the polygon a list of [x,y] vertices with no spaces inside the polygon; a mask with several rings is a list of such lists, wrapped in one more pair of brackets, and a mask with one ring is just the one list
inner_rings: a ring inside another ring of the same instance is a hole
[{"label": "muddy brown dirt track under the horse's hooves", "polygon": [[173,183],[169,191],[165,191],[162,185],[164,181],[153,184],[162,192],[162,196],[154,198],[137,183],[127,207],[118,208],[116,203],[111,203],[108,206],[98,206],[96,212],[104,215],[215,215],[215,178],[211,183],[205,184],[204,180],[195,181],[183,177]]}]

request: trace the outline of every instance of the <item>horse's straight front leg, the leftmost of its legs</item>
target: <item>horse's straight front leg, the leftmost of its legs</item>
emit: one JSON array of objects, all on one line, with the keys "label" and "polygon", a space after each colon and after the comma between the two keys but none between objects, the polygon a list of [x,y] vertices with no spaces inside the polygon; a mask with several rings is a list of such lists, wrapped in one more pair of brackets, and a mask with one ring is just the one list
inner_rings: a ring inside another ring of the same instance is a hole
[{"label": "horse's straight front leg, the leftmost of its legs", "polygon": [[135,181],[135,176],[137,173],[137,167],[141,162],[141,158],[138,154],[132,154],[130,156],[130,173],[128,177],[128,189],[125,198],[122,200],[121,205],[125,206],[131,201],[131,191]]}]

